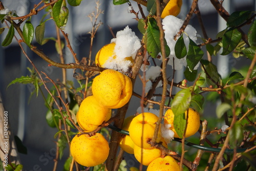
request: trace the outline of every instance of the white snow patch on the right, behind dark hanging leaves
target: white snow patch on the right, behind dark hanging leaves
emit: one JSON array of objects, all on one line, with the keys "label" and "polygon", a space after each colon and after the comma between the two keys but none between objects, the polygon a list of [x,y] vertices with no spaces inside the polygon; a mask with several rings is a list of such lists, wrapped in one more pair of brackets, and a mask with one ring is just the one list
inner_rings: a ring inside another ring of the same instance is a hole
[{"label": "white snow patch on the right, behind dark hanging leaves", "polygon": [[[170,55],[169,60],[168,60],[168,65],[172,66],[173,68],[175,67],[175,70],[181,70],[183,66],[187,65],[186,62],[186,57],[182,59],[178,59],[175,55],[174,47],[176,44],[176,41],[174,40],[174,36],[179,32],[184,20],[177,18],[173,15],[168,15],[166,16],[163,21],[163,29],[165,33],[165,39],[167,42],[167,45],[170,48]],[[189,36],[189,38],[193,41],[197,41],[197,31],[194,27],[191,25],[187,25],[186,29],[184,32]],[[189,45],[189,39],[186,34],[183,34],[184,42],[186,45],[186,48],[188,50],[188,45]],[[178,40],[179,37],[177,37]],[[198,65],[194,68],[196,70],[199,67]]]}]

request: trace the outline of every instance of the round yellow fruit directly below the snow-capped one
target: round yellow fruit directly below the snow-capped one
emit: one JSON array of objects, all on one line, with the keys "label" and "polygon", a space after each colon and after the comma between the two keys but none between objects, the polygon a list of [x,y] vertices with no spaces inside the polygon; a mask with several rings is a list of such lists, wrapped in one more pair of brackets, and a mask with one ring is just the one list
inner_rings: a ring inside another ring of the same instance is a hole
[{"label": "round yellow fruit directly below the snow-capped one", "polygon": [[118,71],[104,70],[94,78],[92,92],[102,105],[118,109],[130,100],[133,93],[132,81]]}]

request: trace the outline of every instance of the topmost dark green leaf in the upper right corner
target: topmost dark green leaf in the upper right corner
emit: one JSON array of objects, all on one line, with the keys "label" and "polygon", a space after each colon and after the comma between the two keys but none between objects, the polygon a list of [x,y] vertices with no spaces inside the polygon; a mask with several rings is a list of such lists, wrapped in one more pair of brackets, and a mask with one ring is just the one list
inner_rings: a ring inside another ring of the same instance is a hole
[{"label": "topmost dark green leaf in the upper right corner", "polygon": [[237,27],[243,24],[251,16],[251,11],[233,12],[227,19],[228,27]]}]

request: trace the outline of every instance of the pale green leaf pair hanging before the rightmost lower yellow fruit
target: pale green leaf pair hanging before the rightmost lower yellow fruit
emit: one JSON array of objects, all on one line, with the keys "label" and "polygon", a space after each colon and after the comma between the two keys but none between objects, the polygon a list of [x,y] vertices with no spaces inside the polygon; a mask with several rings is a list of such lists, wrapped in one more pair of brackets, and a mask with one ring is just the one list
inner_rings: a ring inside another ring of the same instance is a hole
[{"label": "pale green leaf pair hanging before the rightmost lower yellow fruit", "polygon": [[179,91],[172,102],[172,110],[174,112],[174,127],[180,138],[183,137],[186,119],[185,111],[189,108],[191,101],[190,89],[183,89]]}]

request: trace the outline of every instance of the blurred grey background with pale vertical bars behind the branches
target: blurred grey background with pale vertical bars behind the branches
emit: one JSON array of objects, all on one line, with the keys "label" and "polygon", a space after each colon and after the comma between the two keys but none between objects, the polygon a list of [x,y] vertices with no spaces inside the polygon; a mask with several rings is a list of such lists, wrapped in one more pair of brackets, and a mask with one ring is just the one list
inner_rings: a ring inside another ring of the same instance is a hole
[{"label": "blurred grey background with pale vertical bars behind the branches", "polygon": [[[18,16],[25,15],[30,12],[35,4],[38,4],[38,0],[4,0],[1,1],[5,8],[9,10],[16,10]],[[100,0],[100,9],[104,11],[104,14],[100,15],[99,20],[103,23],[100,26],[93,44],[92,59],[98,50],[105,44],[109,44],[113,38],[109,27],[112,28],[113,33],[123,30],[127,25],[141,38],[142,34],[137,28],[137,22],[134,19],[135,15],[127,12],[127,4],[120,6],[114,6],[112,1]],[[181,19],[185,19],[187,12],[189,11],[192,1],[183,0],[183,6],[181,13],[177,16]],[[135,2],[131,2],[134,10],[137,12],[138,7]],[[199,9],[202,15],[203,23],[207,31],[208,37],[212,39],[216,38],[216,34],[226,28],[225,21],[219,17],[214,7],[212,7],[210,1],[199,1]],[[80,6],[69,8],[68,24],[65,28],[65,32],[69,34],[69,39],[73,50],[77,54],[77,57],[88,57],[90,51],[90,34],[88,32],[92,28],[92,24],[88,15],[95,11],[95,1],[82,1]],[[250,10],[255,11],[256,3],[254,0],[236,0],[236,1],[224,1],[224,8],[231,14],[233,11]],[[146,13],[146,8],[143,7]],[[34,28],[39,25],[40,19],[45,14],[45,11],[40,11],[36,16],[32,17],[31,23]],[[139,16],[141,16],[139,14]],[[194,14],[191,18],[190,25],[192,25],[202,35],[197,15]],[[2,27],[6,25],[1,24]],[[23,28],[23,26],[22,26]],[[246,29],[246,27],[245,27]],[[4,40],[7,34],[7,30],[0,35],[1,42]],[[17,35],[17,34],[15,34]],[[53,20],[46,23],[45,37],[56,36],[56,30]],[[19,37],[17,37],[19,39]],[[200,42],[200,39],[198,39]],[[34,40],[32,42],[39,49],[42,49],[49,58],[59,61],[58,54],[55,49],[55,42],[49,41],[44,46],[40,46]],[[39,56],[31,52],[24,44],[27,54],[34,62],[39,71],[46,72],[48,76],[56,80],[61,78],[61,69],[56,67],[48,67],[48,63],[42,60]],[[65,60],[66,63],[74,62],[71,53],[68,48],[65,47]],[[204,56],[206,58],[206,56]],[[233,58],[232,56],[221,56],[218,58],[213,57],[213,62],[217,65],[218,71],[222,77],[226,77],[232,68],[241,69],[243,66],[248,65],[249,61],[241,58]],[[33,87],[24,84],[14,84],[7,89],[8,84],[15,78],[26,76],[29,74],[27,67],[32,67],[29,61],[26,59],[20,47],[13,39],[13,42],[8,47],[0,47],[0,93],[5,106],[5,110],[9,114],[9,123],[13,135],[17,135],[24,145],[28,148],[28,154],[20,154],[20,159],[24,165],[23,170],[51,170],[53,168],[53,159],[56,155],[56,146],[54,135],[57,129],[53,129],[48,126],[46,122],[47,108],[44,105],[44,100],[40,93],[38,97],[33,95],[29,101],[30,93],[33,91]],[[184,79],[182,77],[183,71],[179,71],[176,77],[176,82]],[[168,76],[172,76],[172,71],[168,72]],[[76,82],[73,78],[73,70],[68,70],[68,80]],[[136,81],[136,91],[142,87],[140,80]],[[47,95],[47,92],[43,92]],[[28,102],[29,101],[29,102]],[[134,115],[137,108],[140,106],[140,99],[132,97],[131,105],[127,112],[128,115]],[[215,116],[215,106],[217,104],[206,103],[208,106],[207,111],[204,111],[204,117]],[[207,115],[206,115],[207,114]],[[60,160],[60,163],[64,163],[69,156],[69,151],[66,150],[64,156]],[[127,166],[134,166],[136,161],[132,155],[127,155]],[[62,170],[63,164],[59,164],[57,170]]]}]

